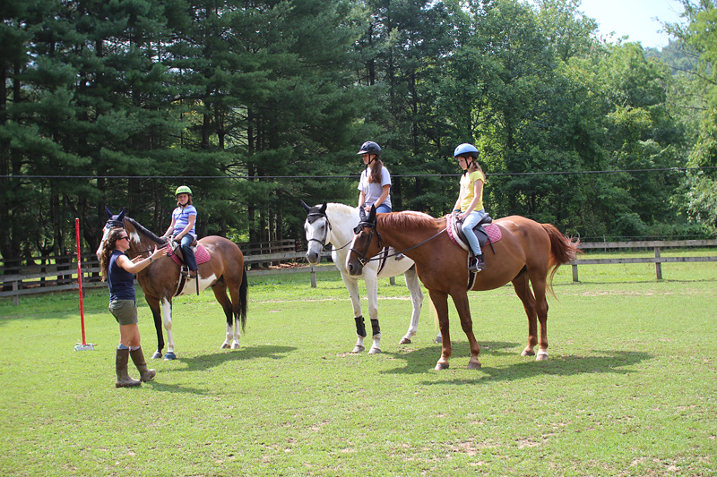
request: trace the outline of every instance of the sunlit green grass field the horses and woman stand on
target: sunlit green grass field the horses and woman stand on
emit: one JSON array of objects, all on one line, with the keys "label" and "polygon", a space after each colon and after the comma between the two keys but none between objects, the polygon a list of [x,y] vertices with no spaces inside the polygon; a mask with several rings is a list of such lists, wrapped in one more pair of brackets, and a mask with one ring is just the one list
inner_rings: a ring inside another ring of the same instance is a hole
[{"label": "sunlit green grass field the horses and woman stand on", "polygon": [[[592,256],[597,254],[592,254]],[[663,256],[665,254],[663,253]],[[382,349],[350,354],[338,274],[255,279],[242,347],[220,350],[213,294],[175,301],[176,362],[114,388],[107,292],[0,301],[2,475],[717,475],[717,266],[570,268],[550,299],[547,362],[521,357],[509,286],[471,294],[482,369],[452,310],[451,369],[428,302],[419,335],[402,278],[381,283]],[[140,300],[143,349],[156,345]],[[365,304],[365,301],[364,301]],[[131,372],[136,377],[136,372]]]}]

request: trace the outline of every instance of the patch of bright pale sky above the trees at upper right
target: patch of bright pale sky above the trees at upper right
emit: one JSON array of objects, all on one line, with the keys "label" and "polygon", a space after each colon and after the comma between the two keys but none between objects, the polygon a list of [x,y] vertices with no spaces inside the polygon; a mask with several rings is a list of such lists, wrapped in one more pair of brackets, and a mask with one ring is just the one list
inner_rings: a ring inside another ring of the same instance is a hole
[{"label": "patch of bright pale sky above the trees at upper right", "polygon": [[658,33],[661,23],[682,22],[679,14],[684,12],[678,0],[583,0],[578,10],[598,21],[602,37],[608,38],[614,31],[612,41],[627,35],[627,41],[655,48],[669,43],[668,34]]}]

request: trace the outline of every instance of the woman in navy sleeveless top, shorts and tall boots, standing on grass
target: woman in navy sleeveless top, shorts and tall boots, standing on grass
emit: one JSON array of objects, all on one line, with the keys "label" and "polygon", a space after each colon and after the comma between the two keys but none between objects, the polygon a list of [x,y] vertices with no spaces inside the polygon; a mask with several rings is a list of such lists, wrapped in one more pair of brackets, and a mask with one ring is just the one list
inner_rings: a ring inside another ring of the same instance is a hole
[{"label": "woman in navy sleeveless top, shorts and tall boots, standing on grass", "polygon": [[[147,369],[144,353],[140,345],[140,328],[137,326],[137,301],[134,292],[134,274],[150,266],[151,262],[167,254],[168,247],[157,250],[143,259],[138,256],[129,260],[125,251],[129,249],[129,235],[124,228],[112,229],[104,242],[99,256],[99,268],[102,281],[109,285],[109,312],[119,323],[119,345],[115,359],[117,371],[116,388],[134,388],[142,381],[149,381],[157,374]],[[132,379],[127,372],[127,362],[132,361],[140,371],[140,379]]]}]

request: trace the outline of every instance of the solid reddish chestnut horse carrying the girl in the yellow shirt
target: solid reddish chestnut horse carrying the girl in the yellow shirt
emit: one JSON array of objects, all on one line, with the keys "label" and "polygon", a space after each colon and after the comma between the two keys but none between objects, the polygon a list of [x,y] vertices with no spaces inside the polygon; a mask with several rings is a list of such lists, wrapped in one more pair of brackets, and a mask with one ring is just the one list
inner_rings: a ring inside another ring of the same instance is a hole
[{"label": "solid reddish chestnut horse carrying the girl in the yellow shirt", "polygon": [[[384,246],[391,246],[409,256],[416,262],[419,278],[428,288],[443,335],[443,349],[436,370],[448,368],[448,359],[452,354],[448,295],[453,298],[461,327],[471,347],[468,369],[478,369],[480,346],[473,335],[467,294],[471,281],[467,267],[468,252],[451,242],[445,233],[446,222],[445,217],[434,218],[420,212],[376,214],[376,210],[372,209],[357,227],[358,233],[351,243],[346,268],[351,275],[360,274],[367,257],[373,257]],[[512,282],[515,294],[523,302],[528,315],[528,345],[522,354],[534,355],[534,346],[539,345],[536,359],[547,360],[546,291],[554,295],[552,278],[560,265],[574,260],[579,252],[579,241],[573,242],[555,226],[539,224],[525,217],[505,217],[493,223],[500,227],[502,238],[493,243],[495,254],[490,247],[484,249],[488,268],[473,277],[471,290],[492,290]],[[537,338],[537,321],[540,321],[540,341]]]}]

